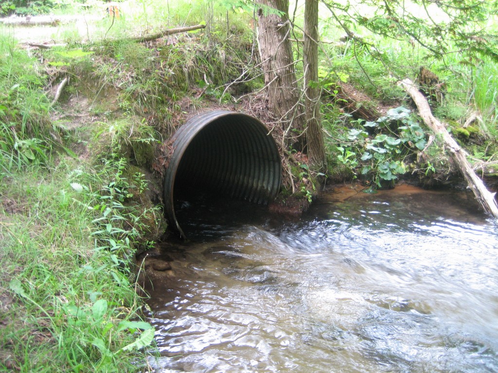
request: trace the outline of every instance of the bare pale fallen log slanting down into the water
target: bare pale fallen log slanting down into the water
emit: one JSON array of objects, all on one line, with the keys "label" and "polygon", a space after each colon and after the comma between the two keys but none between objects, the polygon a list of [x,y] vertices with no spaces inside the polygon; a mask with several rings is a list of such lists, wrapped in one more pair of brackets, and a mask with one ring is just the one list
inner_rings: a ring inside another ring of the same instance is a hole
[{"label": "bare pale fallen log slanting down into the water", "polygon": [[495,201],[495,194],[490,192],[484,185],[483,181],[477,176],[469,161],[467,160],[468,153],[462,149],[443,123],[432,115],[429,103],[425,96],[418,90],[418,88],[409,79],[405,79],[398,84],[410,95],[410,97],[417,105],[418,112],[425,125],[429,127],[435,135],[439,136],[445,149],[448,150],[451,158],[457,164],[460,172],[469,184],[469,187],[474,192],[477,200],[483,209],[498,219],[498,207]]}]

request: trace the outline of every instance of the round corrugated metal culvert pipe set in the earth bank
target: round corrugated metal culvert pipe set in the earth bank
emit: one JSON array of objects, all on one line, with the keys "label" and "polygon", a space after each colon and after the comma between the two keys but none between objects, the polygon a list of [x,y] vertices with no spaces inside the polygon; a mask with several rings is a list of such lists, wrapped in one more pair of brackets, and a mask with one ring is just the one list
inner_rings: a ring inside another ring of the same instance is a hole
[{"label": "round corrugated metal culvert pipe set in the earth bank", "polygon": [[278,147],[258,119],[232,111],[199,114],[170,140],[164,207],[170,225],[185,237],[175,216],[175,193],[202,187],[219,195],[268,203],[280,190]]}]

